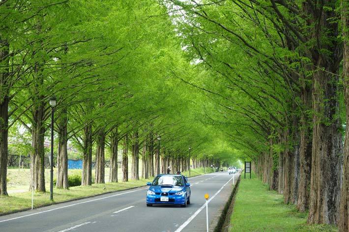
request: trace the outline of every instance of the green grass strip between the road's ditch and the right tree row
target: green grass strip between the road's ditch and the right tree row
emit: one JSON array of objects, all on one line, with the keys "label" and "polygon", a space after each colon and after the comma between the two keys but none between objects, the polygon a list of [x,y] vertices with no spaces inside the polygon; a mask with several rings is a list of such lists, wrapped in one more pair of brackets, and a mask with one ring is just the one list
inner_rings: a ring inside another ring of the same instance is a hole
[{"label": "green grass strip between the road's ditch and the right tree row", "polygon": [[294,205],[285,205],[283,196],[268,191],[262,181],[243,179],[235,198],[231,232],[338,232],[328,225],[306,225],[308,213],[299,213]]}]

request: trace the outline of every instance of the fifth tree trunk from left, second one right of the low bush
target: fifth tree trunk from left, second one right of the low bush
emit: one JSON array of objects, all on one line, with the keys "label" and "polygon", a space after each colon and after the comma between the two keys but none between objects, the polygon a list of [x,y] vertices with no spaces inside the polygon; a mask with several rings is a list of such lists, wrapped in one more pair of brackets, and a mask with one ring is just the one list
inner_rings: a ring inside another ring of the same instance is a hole
[{"label": "fifth tree trunk from left, second one right of the low bush", "polygon": [[97,134],[97,152],[96,152],[96,170],[95,170],[95,182],[104,183],[105,174],[105,132],[104,129],[100,129]]}]

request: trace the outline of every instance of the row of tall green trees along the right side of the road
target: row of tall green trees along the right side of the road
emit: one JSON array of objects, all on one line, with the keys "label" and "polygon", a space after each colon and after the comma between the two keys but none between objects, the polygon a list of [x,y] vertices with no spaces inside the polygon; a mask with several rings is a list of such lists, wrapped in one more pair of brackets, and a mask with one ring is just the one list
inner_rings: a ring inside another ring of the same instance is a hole
[{"label": "row of tall green trees along the right side of the road", "polygon": [[212,100],[208,121],[309,224],[349,231],[348,1],[167,4],[205,70],[180,78]]}]

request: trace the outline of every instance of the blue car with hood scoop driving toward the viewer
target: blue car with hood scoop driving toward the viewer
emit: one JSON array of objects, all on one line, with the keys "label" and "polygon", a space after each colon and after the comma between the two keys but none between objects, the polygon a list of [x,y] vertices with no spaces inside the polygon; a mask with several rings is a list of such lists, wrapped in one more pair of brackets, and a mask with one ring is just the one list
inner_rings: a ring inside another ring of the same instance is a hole
[{"label": "blue car with hood scoop driving toward the viewer", "polygon": [[146,191],[146,206],[153,204],[180,205],[186,207],[190,204],[190,183],[183,175],[161,174],[157,175]]}]

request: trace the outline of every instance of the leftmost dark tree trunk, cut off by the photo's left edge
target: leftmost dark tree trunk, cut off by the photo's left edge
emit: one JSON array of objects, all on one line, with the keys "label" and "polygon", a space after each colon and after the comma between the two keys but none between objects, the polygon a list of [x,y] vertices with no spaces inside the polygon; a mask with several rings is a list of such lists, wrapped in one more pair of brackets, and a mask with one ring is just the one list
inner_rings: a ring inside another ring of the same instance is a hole
[{"label": "leftmost dark tree trunk, cut off by the photo's left edge", "polygon": [[9,103],[9,73],[8,73],[8,54],[9,44],[6,40],[0,38],[0,195],[7,194],[7,157],[8,157],[8,103]]}]

